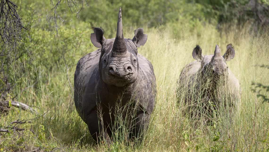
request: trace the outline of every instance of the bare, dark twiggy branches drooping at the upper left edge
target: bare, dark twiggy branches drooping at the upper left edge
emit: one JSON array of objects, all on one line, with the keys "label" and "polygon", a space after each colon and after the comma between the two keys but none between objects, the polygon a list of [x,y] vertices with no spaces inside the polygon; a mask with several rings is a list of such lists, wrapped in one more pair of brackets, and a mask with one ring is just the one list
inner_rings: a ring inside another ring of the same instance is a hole
[{"label": "bare, dark twiggy branches drooping at the upper left edge", "polygon": [[[10,93],[13,84],[10,83],[8,66],[20,58],[23,53],[17,52],[17,46],[22,40],[23,26],[17,9],[18,6],[11,0],[0,0],[0,100]],[[26,29],[27,30],[27,29]]]}]

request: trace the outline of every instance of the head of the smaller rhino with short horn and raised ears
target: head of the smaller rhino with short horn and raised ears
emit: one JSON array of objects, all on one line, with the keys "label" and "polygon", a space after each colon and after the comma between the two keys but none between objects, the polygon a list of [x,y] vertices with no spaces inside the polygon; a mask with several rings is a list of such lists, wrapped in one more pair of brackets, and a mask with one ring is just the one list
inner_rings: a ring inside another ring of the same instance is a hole
[{"label": "head of the smaller rhino with short horn and raised ears", "polygon": [[234,58],[235,50],[232,44],[226,46],[227,50],[223,56],[221,56],[220,48],[218,45],[215,47],[214,55],[202,54],[202,49],[199,45],[193,49],[192,56],[196,60],[201,60],[201,74],[202,76],[213,77],[214,80],[218,80],[220,77],[228,75],[228,66],[226,61]]}]

